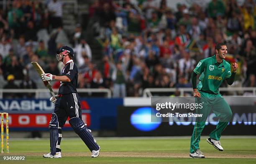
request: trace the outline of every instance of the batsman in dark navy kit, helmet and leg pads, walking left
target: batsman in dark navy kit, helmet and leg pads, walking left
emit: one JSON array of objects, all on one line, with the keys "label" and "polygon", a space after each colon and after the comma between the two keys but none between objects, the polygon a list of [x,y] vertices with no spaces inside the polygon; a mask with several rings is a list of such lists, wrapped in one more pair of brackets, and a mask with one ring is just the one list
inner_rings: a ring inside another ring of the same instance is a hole
[{"label": "batsman in dark navy kit, helmet and leg pads, walking left", "polygon": [[44,154],[45,158],[61,158],[61,128],[64,126],[67,117],[69,124],[86,146],[92,152],[92,157],[98,157],[100,146],[95,143],[90,130],[82,121],[82,111],[80,99],[77,94],[78,68],[73,62],[74,51],[71,47],[64,46],[56,52],[57,60],[63,62],[64,67],[61,76],[45,73],[41,75],[43,81],[59,80],[59,94],[50,98],[55,103],[54,113],[52,113],[49,123],[50,130],[50,153]]}]

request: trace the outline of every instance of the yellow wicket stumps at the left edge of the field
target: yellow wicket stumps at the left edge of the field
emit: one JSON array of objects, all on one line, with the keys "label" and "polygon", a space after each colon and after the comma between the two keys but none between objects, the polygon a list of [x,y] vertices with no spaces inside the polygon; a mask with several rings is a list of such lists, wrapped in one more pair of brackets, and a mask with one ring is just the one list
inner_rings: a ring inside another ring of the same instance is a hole
[{"label": "yellow wicket stumps at the left edge of the field", "polygon": [[9,153],[9,116],[8,113],[1,114],[1,153],[4,152],[4,114],[5,114],[5,142],[6,142],[6,152]]}]

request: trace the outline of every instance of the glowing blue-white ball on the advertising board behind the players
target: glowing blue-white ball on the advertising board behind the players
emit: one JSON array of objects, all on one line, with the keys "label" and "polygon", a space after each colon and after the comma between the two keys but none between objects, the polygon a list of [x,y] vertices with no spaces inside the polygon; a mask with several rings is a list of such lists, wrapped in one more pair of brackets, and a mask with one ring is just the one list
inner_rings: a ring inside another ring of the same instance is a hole
[{"label": "glowing blue-white ball on the advertising board behind the players", "polygon": [[149,132],[159,127],[162,119],[157,118],[156,121],[151,122],[151,108],[141,107],[136,109],[130,118],[131,124],[138,130]]}]

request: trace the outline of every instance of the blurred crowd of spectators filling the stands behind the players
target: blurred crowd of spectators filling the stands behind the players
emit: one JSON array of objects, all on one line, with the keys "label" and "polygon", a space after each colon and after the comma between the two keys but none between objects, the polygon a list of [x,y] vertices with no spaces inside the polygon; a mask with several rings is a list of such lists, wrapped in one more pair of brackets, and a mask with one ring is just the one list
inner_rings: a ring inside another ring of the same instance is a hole
[{"label": "blurred crowd of spectators filling the stands behind the players", "polygon": [[[197,62],[214,55],[218,42],[227,44],[226,60],[239,65],[232,86],[256,87],[255,0],[211,0],[206,7],[169,7],[166,0],[125,0],[121,6],[93,0],[88,16],[93,27],[78,24],[72,37],[63,29],[61,0],[8,2],[7,10],[0,10],[0,88],[44,88],[30,62],[59,75],[63,65],[57,63],[56,50],[62,45],[74,48],[79,88],[109,88],[113,97],[138,97],[144,88],[192,87]],[[102,45],[102,61],[93,60],[87,44],[92,38],[84,38],[84,30]]]}]

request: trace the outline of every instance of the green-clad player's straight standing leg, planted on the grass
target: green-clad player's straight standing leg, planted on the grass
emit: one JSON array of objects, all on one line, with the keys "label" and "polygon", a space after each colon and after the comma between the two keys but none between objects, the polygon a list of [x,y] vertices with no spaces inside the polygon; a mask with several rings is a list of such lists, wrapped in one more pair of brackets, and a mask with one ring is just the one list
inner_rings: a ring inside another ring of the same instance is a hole
[{"label": "green-clad player's straight standing leg, planted on the grass", "polygon": [[199,142],[200,142],[200,137],[201,137],[201,133],[202,130],[205,127],[205,122],[207,119],[208,114],[210,113],[210,103],[209,103],[209,99],[206,97],[208,95],[205,95],[204,92],[200,92],[201,94],[201,98],[198,99],[196,98],[196,103],[202,103],[202,109],[197,109],[196,112],[197,114],[202,114],[202,117],[197,117],[196,122],[195,122],[195,126],[194,126],[194,130],[193,130],[193,134],[191,136],[191,140],[190,140],[190,157],[197,157],[197,158],[202,158],[204,157],[203,155],[200,154],[200,152],[198,153],[197,150],[199,150]]}]

